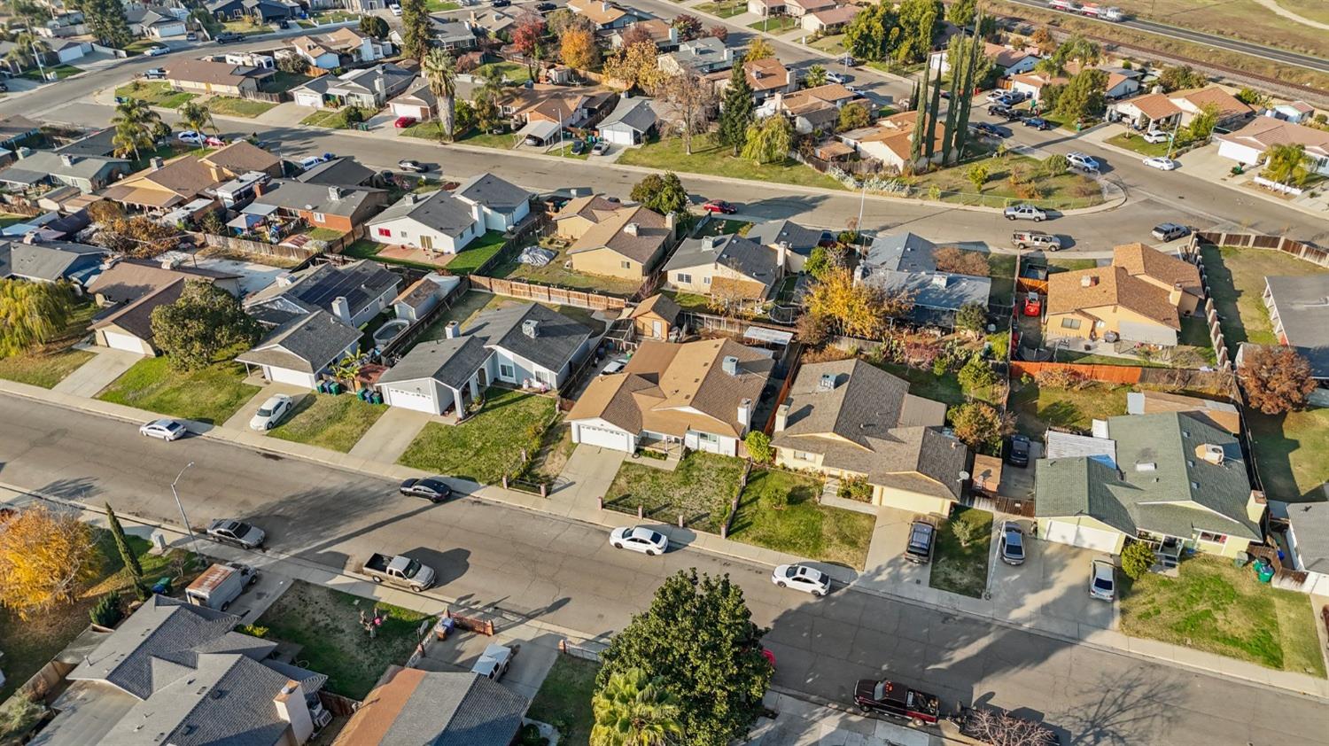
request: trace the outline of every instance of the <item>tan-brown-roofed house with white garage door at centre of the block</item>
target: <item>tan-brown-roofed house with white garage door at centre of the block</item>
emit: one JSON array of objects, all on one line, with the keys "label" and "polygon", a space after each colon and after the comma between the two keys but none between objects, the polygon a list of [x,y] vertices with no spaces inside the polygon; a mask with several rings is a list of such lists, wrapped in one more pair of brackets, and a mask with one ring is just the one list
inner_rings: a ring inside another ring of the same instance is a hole
[{"label": "tan-brown-roofed house with white garage door at centre of the block", "polygon": [[621,372],[594,379],[573,404],[573,443],[738,456],[773,364],[769,351],[731,339],[643,340]]}]

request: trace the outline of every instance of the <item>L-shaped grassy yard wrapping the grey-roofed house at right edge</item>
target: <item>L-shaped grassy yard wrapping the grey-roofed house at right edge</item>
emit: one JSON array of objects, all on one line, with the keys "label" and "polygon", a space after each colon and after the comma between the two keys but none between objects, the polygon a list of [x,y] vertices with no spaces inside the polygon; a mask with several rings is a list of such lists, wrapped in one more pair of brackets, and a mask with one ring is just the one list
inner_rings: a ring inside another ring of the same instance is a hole
[{"label": "L-shaped grassy yard wrapping the grey-roofed house at right edge", "polygon": [[1265,277],[1329,273],[1329,269],[1269,249],[1203,246],[1200,258],[1221,319],[1223,339],[1232,350],[1241,342],[1278,343],[1260,298]]}]

